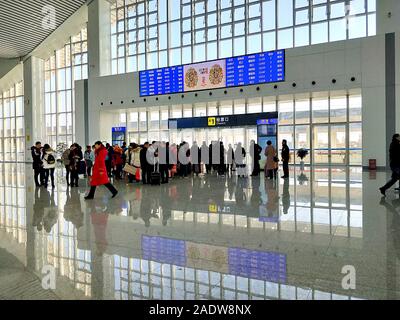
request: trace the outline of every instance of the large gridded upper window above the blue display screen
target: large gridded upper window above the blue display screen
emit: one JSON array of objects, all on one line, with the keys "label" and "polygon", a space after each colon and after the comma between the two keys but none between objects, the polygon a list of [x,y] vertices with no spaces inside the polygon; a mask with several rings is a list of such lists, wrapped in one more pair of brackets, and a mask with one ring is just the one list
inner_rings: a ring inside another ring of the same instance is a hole
[{"label": "large gridded upper window above the blue display screen", "polygon": [[112,73],[375,34],[376,0],[117,0]]}]

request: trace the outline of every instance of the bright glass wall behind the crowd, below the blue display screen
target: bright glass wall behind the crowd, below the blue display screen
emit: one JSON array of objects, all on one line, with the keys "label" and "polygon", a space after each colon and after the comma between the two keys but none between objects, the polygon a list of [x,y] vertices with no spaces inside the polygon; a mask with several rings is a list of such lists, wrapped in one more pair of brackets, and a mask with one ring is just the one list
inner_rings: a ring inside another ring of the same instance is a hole
[{"label": "bright glass wall behind the crowd, below the blue display screen", "polygon": [[[357,92],[320,92],[314,96],[259,97],[196,104],[130,109],[115,126],[126,126],[129,142],[171,141],[192,143],[222,139],[224,144],[256,139],[255,128],[168,130],[168,119],[278,111],[279,145],[286,139],[291,163],[296,152],[307,149],[306,164],[362,164],[362,99]],[[262,146],[263,148],[265,146]]]}]

